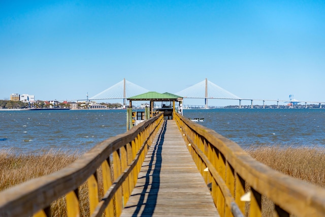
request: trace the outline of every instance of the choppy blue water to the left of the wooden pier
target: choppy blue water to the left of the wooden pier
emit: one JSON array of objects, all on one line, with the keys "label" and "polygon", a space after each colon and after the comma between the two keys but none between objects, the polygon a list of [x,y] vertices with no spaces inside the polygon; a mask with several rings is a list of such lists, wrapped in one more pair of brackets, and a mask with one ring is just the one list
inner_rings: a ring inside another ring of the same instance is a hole
[{"label": "choppy blue water to the left of the wooden pier", "polygon": [[1,111],[0,148],[84,152],[126,131],[125,110]]}]

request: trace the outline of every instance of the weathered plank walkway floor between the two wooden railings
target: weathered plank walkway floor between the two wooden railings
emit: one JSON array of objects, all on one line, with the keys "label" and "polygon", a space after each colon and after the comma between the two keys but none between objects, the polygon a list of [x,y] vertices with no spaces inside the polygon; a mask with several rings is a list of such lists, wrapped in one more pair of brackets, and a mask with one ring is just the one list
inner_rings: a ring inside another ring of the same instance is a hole
[{"label": "weathered plank walkway floor between the two wooden railings", "polygon": [[219,216],[174,120],[166,120],[121,216]]}]

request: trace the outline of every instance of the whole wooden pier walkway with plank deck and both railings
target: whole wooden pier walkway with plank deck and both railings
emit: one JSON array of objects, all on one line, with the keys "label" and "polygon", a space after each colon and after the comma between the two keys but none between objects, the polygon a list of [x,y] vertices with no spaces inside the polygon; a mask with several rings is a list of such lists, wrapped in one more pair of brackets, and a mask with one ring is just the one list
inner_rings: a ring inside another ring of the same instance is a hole
[{"label": "whole wooden pier walkway with plank deck and both railings", "polygon": [[[127,132],[68,167],[0,192],[0,216],[325,216],[323,188],[172,116],[160,113],[137,126],[129,121]],[[265,209],[266,202],[274,209]]]}]

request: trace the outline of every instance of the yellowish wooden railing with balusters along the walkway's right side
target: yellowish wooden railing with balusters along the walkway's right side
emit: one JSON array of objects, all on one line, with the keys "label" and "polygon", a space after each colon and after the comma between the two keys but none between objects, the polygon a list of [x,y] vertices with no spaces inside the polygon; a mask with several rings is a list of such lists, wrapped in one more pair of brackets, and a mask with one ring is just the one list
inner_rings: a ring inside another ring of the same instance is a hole
[{"label": "yellowish wooden railing with balusters along the walkway's right side", "polygon": [[273,202],[274,216],[325,216],[325,189],[257,162],[235,142],[177,113],[174,118],[220,216],[262,216],[262,196]]}]

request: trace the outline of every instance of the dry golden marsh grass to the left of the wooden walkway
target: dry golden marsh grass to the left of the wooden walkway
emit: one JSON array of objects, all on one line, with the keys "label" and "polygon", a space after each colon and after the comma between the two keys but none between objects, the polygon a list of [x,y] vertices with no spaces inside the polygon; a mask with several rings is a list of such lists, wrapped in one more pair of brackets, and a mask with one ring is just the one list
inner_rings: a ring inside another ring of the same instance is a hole
[{"label": "dry golden marsh grass to the left of the wooden walkway", "polygon": [[[69,154],[70,153],[70,154]],[[0,150],[0,191],[32,178],[37,178],[67,167],[80,157],[80,153],[60,150],[45,153],[15,154],[12,150]],[[104,196],[102,170],[98,169],[99,194]],[[80,214],[89,216],[88,188],[79,187]],[[52,216],[66,216],[64,197],[51,204]]]}]

